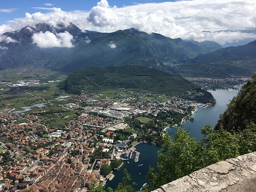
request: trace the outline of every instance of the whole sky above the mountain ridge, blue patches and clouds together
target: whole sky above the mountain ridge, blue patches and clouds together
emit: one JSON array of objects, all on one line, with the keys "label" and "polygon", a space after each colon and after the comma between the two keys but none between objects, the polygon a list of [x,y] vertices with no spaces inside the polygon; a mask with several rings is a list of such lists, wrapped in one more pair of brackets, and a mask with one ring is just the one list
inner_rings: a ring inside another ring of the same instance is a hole
[{"label": "whole sky above the mountain ridge, blue patches and clouds together", "polygon": [[[11,0],[0,4],[0,34],[37,23],[56,27],[72,22],[83,31],[134,27],[173,39],[212,40],[224,45],[256,39],[255,10],[255,0]],[[46,34],[38,34],[38,39],[40,35],[46,38]],[[56,40],[72,39],[67,33],[54,35]]]}]

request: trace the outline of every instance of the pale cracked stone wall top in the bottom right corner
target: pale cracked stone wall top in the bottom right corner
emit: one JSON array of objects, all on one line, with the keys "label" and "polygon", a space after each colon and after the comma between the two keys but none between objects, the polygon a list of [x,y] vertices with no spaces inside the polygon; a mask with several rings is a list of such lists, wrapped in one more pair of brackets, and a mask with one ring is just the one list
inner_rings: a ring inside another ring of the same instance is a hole
[{"label": "pale cracked stone wall top in the bottom right corner", "polygon": [[161,186],[154,192],[255,191],[256,152],[227,159]]}]

